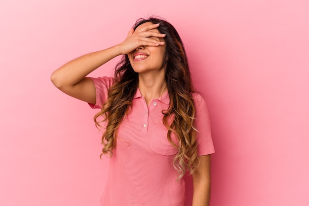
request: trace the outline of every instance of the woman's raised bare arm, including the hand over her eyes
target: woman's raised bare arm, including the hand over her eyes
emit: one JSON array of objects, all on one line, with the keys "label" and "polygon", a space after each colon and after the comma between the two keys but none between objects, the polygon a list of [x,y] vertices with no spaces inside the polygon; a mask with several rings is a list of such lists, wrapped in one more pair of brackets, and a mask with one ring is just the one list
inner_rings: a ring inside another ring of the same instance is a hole
[{"label": "woman's raised bare arm, including the hand over her eyes", "polygon": [[139,46],[160,45],[161,42],[153,38],[147,38],[150,36],[164,37],[162,34],[148,31],[158,26],[157,24],[145,26],[139,32],[134,32],[131,29],[122,43],[108,49],[86,54],[63,65],[51,74],[52,83],[62,92],[72,97],[95,104],[95,86],[86,75],[116,56],[127,54]]}]

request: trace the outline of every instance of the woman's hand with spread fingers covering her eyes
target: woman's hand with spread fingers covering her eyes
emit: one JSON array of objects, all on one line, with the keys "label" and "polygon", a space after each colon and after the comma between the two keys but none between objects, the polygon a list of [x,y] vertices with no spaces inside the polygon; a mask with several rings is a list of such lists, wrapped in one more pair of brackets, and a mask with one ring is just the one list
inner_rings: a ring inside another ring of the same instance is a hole
[{"label": "woman's hand with spread fingers covering her eyes", "polygon": [[154,38],[148,38],[155,36],[163,38],[165,34],[160,34],[156,28],[159,24],[151,24],[146,26],[139,26],[135,31],[133,28],[129,31],[126,39],[118,44],[121,54],[127,54],[139,46],[158,46],[163,45],[164,42],[158,41]]}]

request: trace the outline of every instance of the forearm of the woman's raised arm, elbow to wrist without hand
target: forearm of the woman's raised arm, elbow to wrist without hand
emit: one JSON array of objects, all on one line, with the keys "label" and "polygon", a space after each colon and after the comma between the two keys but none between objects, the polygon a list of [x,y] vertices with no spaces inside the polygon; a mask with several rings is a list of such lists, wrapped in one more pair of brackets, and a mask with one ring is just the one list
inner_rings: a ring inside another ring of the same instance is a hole
[{"label": "forearm of the woman's raised arm, elbow to wrist without hand", "polygon": [[120,54],[121,52],[117,45],[105,50],[86,54],[56,69],[51,75],[51,81],[58,88],[75,86],[87,74]]}]

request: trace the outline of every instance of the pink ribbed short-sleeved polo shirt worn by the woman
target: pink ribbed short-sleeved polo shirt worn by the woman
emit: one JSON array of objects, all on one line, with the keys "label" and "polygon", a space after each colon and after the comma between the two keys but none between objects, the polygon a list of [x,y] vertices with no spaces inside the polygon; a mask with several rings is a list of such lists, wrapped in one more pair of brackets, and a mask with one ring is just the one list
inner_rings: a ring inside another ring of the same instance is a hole
[{"label": "pink ribbed short-sleeved polo shirt worn by the woman", "polygon": [[[101,108],[107,100],[112,77],[91,78],[96,87],[96,104]],[[206,103],[193,94],[196,107],[198,155],[214,152]],[[185,183],[176,181],[173,167],[177,153],[167,140],[162,123],[162,110],[169,105],[168,92],[147,106],[140,91],[132,101],[132,110],[117,131],[117,144],[110,159],[107,184],[101,198],[102,206],[184,206]],[[172,139],[176,139],[172,136]]]}]

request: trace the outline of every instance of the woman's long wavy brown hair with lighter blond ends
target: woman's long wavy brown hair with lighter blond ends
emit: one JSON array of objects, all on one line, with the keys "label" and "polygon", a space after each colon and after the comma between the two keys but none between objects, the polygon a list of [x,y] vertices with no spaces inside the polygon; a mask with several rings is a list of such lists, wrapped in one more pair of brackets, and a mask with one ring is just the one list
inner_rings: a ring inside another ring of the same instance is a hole
[{"label": "woman's long wavy brown hair with lighter blond ends", "polygon": [[[173,166],[179,172],[180,179],[187,170],[191,174],[198,165],[196,148],[196,129],[194,127],[195,106],[192,94],[194,93],[188,59],[183,42],[176,29],[167,21],[150,17],[138,19],[133,29],[139,25],[152,22],[160,23],[156,28],[159,33],[166,34],[165,40],[165,80],[170,98],[166,111],[162,111],[163,124],[168,129],[168,141],[178,149]],[[105,132],[102,136],[101,156],[113,155],[116,148],[117,129],[125,114],[132,106],[132,100],[138,87],[138,73],[130,65],[128,55],[124,55],[115,68],[115,83],[108,90],[108,100],[103,104],[102,110],[94,116],[98,128],[106,122]],[[103,116],[103,120],[98,120]],[[170,118],[172,121],[169,121]],[[171,123],[169,123],[171,122]],[[171,140],[171,133],[178,138],[177,144]],[[100,157],[101,157],[100,156]]]}]

